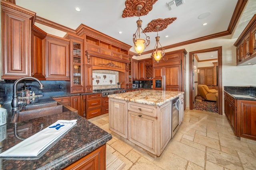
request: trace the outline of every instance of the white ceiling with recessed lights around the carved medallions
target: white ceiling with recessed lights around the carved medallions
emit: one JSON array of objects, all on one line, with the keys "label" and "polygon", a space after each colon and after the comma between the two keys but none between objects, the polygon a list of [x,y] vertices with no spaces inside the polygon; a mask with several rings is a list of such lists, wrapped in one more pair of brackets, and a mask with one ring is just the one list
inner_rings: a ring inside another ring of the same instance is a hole
[{"label": "white ceiling with recessed lights around the carved medallions", "polygon": [[[185,0],[185,4],[170,10],[167,5],[170,0],[158,0],[146,16],[140,17],[143,21],[142,29],[151,20],[177,17],[166,29],[158,33],[162,46],[226,31],[237,1]],[[237,26],[238,31],[236,31],[238,33],[235,32],[233,38],[240,35],[252,15],[255,14],[256,0],[248,2],[251,3],[250,6],[246,6],[249,12],[240,19],[241,24]],[[125,0],[16,0],[16,5],[36,12],[37,16],[72,29],[76,29],[83,23],[128,45],[133,45],[132,35],[137,29],[138,17],[122,18]],[[79,7],[81,11],[76,12],[75,7]],[[198,19],[198,16],[206,12],[210,12],[210,16]],[[203,23],[208,24],[202,26]],[[66,34],[45,25],[38,23],[35,25],[53,35],[63,37]],[[119,31],[122,31],[122,34],[119,34]],[[150,45],[145,51],[152,50],[156,42],[156,32],[147,33],[147,35],[150,37]],[[166,35],[168,35],[167,38]],[[135,52],[134,47],[130,51]]]}]

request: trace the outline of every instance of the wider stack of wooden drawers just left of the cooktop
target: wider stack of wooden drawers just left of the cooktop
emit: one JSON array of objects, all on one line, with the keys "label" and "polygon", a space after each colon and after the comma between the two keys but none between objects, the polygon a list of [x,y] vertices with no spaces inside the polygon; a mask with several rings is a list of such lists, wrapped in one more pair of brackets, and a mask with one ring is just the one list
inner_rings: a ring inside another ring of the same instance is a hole
[{"label": "wider stack of wooden drawers just left of the cooktop", "polygon": [[102,94],[86,95],[86,119],[102,115]]}]

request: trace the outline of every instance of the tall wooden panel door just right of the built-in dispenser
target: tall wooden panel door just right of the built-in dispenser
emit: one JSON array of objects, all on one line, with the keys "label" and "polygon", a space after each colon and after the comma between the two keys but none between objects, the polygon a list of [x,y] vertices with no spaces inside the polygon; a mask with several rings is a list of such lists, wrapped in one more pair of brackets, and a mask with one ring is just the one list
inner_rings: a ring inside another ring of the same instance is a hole
[{"label": "tall wooden panel door just right of the built-in dispenser", "polygon": [[182,91],[181,65],[165,66],[166,90]]}]

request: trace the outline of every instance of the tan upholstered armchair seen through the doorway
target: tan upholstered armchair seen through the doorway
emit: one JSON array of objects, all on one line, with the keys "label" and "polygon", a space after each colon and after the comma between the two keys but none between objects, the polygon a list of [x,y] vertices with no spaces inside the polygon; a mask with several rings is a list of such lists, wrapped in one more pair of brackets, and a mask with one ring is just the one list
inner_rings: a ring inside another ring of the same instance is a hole
[{"label": "tan upholstered armchair seen through the doorway", "polygon": [[[205,100],[217,101],[218,90],[209,89],[208,86],[204,84],[198,84],[197,86],[198,94]],[[217,94],[217,95],[216,95]]]}]

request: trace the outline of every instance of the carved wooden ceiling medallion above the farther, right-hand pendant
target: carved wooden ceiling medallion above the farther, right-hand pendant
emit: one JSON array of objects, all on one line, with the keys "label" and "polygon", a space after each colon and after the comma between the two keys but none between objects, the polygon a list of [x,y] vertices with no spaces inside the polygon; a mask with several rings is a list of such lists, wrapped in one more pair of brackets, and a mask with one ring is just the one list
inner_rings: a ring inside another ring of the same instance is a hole
[{"label": "carved wooden ceiling medallion above the farther, right-hand pendant", "polygon": [[[173,21],[175,21],[177,18],[158,18],[156,20],[152,20],[150,23],[148,23],[148,26],[143,30],[144,33],[148,32],[157,32],[162,31],[167,28],[168,25],[170,25]],[[158,27],[159,26],[159,27]]]}]

